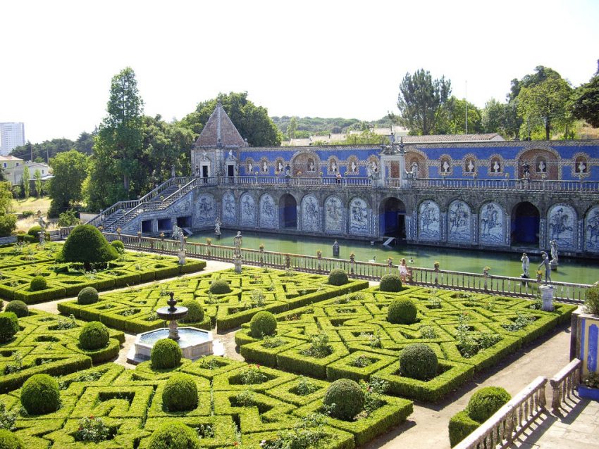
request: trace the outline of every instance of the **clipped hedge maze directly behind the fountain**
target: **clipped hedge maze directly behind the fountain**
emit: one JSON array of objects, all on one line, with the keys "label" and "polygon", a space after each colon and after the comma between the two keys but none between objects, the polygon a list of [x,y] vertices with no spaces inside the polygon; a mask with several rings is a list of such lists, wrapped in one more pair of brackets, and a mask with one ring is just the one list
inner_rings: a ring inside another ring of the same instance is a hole
[{"label": "clipped hedge maze directly behind the fountain", "polygon": [[[229,293],[210,293],[211,283],[217,279],[229,284]],[[58,310],[66,315],[72,313],[82,320],[100,321],[113,329],[139,334],[164,327],[165,322],[159,320],[154,311],[166,305],[167,292],[173,291],[178,301],[192,299],[204,307],[204,321],[180,322],[180,325],[210,329],[216,324],[219,330],[223,330],[249,322],[260,310],[284,312],[367,286],[366,281],[333,286],[327,283],[327,277],[318,274],[244,267],[242,274],[226,270],[157,286],[106,293],[100,296],[100,301],[90,305],[79,305],[77,301],[59,303]]]}]

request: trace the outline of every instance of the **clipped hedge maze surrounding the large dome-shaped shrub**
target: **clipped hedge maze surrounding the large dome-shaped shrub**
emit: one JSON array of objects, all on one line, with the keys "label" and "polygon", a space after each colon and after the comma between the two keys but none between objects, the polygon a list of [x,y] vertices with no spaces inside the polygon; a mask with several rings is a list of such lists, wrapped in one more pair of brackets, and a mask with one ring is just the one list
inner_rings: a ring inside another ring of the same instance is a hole
[{"label": "clipped hedge maze surrounding the large dome-shaped shrub", "polygon": [[[27,304],[41,303],[66,296],[76,296],[83,287],[107,290],[151,282],[154,279],[175,277],[196,272],[206,267],[203,260],[187,260],[178,265],[178,259],[144,253],[125,252],[109,263],[106,270],[85,272],[81,264],[56,263],[58,244],[18,244],[0,248],[0,298],[18,299]],[[31,280],[43,276],[47,288],[31,291]]]}]

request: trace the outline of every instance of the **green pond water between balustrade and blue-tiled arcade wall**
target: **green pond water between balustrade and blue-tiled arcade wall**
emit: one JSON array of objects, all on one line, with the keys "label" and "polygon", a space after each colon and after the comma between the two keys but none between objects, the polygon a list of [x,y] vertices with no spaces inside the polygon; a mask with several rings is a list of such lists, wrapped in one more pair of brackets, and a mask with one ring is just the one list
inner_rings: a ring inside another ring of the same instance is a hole
[{"label": "green pond water between balustrade and blue-tiled arcade wall", "polygon": [[[206,238],[212,239],[214,245],[233,246],[233,237],[237,232],[223,230],[220,239],[214,232],[199,232],[190,236],[187,241],[206,243]],[[332,245],[335,239],[323,237],[288,236],[269,233],[243,232],[243,247],[258,249],[264,244],[265,251],[280,253],[316,255],[321,250],[323,257],[333,257]],[[340,258],[349,259],[353,251],[356,260],[385,263],[392,257],[393,263],[400,263],[406,258],[408,266],[432,268],[436,260],[441,270],[481,273],[483,267],[490,267],[490,274],[500,276],[519,276],[522,272],[520,256],[517,253],[495,253],[493,251],[469,251],[454,248],[432,246],[393,246],[386,248],[382,244],[371,246],[369,242],[339,239]],[[534,274],[541,263],[540,255],[529,254],[531,265],[529,272]],[[409,262],[413,259],[413,262]],[[560,266],[552,272],[551,279],[559,282],[575,282],[593,284],[599,280],[598,260],[569,259],[560,256]]]}]

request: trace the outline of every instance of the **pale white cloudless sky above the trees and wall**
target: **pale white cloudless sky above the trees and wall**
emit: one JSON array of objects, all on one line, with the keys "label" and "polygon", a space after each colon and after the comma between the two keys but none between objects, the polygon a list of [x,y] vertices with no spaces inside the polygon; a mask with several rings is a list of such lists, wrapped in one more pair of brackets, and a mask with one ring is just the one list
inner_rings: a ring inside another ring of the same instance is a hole
[{"label": "pale white cloudless sky above the trees and wall", "polygon": [[599,1],[3,1],[0,44],[0,122],[32,142],[92,131],[126,66],[166,120],[220,91],[271,116],[376,120],[419,68],[478,107],[536,65],[587,82]]}]

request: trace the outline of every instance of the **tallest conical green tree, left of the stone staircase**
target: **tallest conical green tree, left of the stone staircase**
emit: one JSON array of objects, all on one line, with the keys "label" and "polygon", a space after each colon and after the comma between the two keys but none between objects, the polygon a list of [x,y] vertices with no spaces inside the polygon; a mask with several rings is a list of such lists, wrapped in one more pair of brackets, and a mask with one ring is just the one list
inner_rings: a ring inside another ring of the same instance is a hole
[{"label": "tallest conical green tree, left of the stone staircase", "polygon": [[[111,82],[110,98],[106,106],[108,115],[102,120],[94,142],[94,170],[92,177],[94,190],[99,184],[106,184],[109,196],[97,198],[106,205],[118,200],[135,197],[141,191],[139,184],[132,185],[132,179],[142,177],[139,159],[143,140],[144,103],[137,89],[135,72],[128,67]],[[116,188],[116,179],[121,179],[122,189]]]}]

